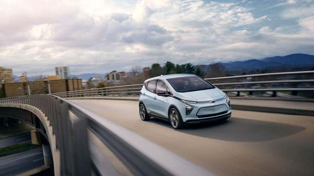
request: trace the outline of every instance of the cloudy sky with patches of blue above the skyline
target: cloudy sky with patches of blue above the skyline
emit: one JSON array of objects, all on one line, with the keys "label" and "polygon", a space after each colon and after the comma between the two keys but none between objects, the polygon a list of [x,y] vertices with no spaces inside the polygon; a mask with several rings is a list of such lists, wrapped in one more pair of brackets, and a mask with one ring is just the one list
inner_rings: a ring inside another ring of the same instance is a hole
[{"label": "cloudy sky with patches of blue above the skyline", "polygon": [[0,0],[15,75],[128,71],[314,54],[313,0]]}]

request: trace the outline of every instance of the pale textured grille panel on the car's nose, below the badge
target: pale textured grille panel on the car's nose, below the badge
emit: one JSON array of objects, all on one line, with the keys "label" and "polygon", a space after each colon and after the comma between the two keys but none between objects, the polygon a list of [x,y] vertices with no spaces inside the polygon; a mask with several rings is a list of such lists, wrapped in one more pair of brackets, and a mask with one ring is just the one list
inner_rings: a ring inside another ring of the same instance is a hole
[{"label": "pale textured grille panel on the car's nose, below the badge", "polygon": [[216,116],[216,115],[221,115],[224,113],[227,113],[228,108],[225,104],[221,104],[221,105],[217,105],[217,106],[210,106],[210,107],[204,107],[201,108],[198,112],[197,112],[197,116],[199,118],[204,118],[204,117],[212,117],[212,116]]}]

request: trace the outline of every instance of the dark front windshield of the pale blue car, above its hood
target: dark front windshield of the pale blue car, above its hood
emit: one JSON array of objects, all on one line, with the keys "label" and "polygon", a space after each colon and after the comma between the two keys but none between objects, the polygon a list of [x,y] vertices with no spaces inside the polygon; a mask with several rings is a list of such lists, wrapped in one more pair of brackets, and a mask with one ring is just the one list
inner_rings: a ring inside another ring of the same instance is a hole
[{"label": "dark front windshield of the pale blue car, above its hood", "polygon": [[215,88],[209,82],[198,76],[170,78],[167,79],[167,81],[177,92],[192,92]]}]

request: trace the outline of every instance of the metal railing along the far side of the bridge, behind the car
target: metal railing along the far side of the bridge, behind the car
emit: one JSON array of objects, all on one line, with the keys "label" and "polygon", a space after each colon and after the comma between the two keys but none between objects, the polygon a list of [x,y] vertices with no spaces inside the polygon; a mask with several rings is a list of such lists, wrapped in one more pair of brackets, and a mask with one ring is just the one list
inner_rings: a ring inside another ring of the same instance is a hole
[{"label": "metal railing along the far side of the bridge, behind the car", "polygon": [[[220,77],[220,78],[206,78],[205,80],[226,80],[226,79],[237,79],[237,78],[254,78],[254,77],[266,77],[266,76],[286,76],[286,75],[301,75],[301,74],[314,74],[314,71],[299,71],[299,72],[281,72],[281,73],[265,73],[265,74],[254,74],[254,75],[240,75],[232,77]],[[308,83],[313,84],[314,79],[307,80],[268,80],[268,81],[242,81],[242,82],[224,82],[224,83],[213,83],[215,86],[228,86],[228,85],[250,85],[250,84],[277,84],[277,83]],[[143,84],[133,84],[124,86],[105,87],[97,89],[86,89],[70,92],[60,92],[52,95],[60,97],[77,97],[77,96],[107,96],[107,95],[118,95],[118,96],[132,96],[139,95],[139,92]],[[272,96],[277,96],[277,91],[314,91],[314,87],[260,87],[260,88],[237,88],[237,89],[226,89],[221,88],[224,92],[236,92],[236,96],[240,96],[240,92],[249,92],[253,95],[253,92],[272,91]]]}]

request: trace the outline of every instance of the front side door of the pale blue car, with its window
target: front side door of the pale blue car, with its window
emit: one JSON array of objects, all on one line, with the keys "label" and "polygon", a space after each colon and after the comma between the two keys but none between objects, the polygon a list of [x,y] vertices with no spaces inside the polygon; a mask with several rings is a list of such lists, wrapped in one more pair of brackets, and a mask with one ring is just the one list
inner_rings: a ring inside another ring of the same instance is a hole
[{"label": "front side door of the pale blue car, with its window", "polygon": [[158,93],[166,94],[168,92],[168,88],[164,81],[158,80],[156,85],[156,113],[157,115],[168,118],[168,107],[170,106],[168,103],[168,96],[158,96]]}]

